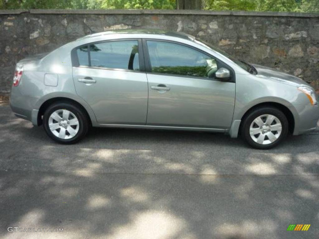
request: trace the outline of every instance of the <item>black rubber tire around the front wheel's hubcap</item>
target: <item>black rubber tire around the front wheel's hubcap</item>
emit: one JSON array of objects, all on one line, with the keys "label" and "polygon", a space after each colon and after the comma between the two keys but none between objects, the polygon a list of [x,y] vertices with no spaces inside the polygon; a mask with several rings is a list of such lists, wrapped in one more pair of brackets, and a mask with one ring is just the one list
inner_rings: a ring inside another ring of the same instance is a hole
[{"label": "black rubber tire around the front wheel's hubcap", "polygon": [[[255,142],[249,134],[250,125],[258,116],[265,115],[265,114],[271,114],[271,115],[277,117],[278,120],[280,120],[282,129],[281,129],[281,134],[279,135],[277,140],[275,140],[274,142],[272,142],[270,144],[259,144],[259,143]],[[280,111],[279,109],[277,109],[275,107],[271,107],[271,106],[268,106],[268,107],[263,106],[261,108],[256,108],[256,109],[252,110],[251,112],[249,112],[245,116],[245,118],[243,119],[242,124],[241,124],[241,136],[250,146],[252,146],[253,148],[257,148],[257,149],[273,148],[273,147],[277,146],[280,142],[282,142],[286,138],[287,134],[288,134],[288,120],[286,118],[286,115],[282,111]]]}]

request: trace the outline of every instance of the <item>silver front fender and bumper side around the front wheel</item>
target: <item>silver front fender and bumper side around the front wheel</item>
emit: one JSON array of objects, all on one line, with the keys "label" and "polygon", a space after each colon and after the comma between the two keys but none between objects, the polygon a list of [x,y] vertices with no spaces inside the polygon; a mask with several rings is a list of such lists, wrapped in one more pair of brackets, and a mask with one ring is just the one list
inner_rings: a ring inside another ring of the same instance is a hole
[{"label": "silver front fender and bumper side around the front wheel", "polygon": [[[297,83],[286,82],[274,77],[236,75],[233,122],[241,120],[244,114],[255,105],[272,102],[286,106],[293,114],[294,135],[302,134],[316,127],[319,118],[318,106],[311,105],[307,96],[298,91]],[[231,131],[230,134],[236,136],[234,131]]]}]

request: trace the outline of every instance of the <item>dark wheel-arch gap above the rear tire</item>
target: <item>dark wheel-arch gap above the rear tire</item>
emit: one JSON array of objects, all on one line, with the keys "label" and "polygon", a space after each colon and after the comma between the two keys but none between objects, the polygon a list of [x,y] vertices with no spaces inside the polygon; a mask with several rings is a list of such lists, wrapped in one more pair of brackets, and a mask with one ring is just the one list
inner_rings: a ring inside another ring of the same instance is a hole
[{"label": "dark wheel-arch gap above the rear tire", "polygon": [[54,97],[50,97],[45,100],[42,100],[41,103],[39,103],[39,110],[38,110],[38,116],[37,116],[38,126],[42,125],[42,116],[45,110],[48,108],[48,106],[59,101],[70,102],[72,104],[77,105],[86,114],[87,119],[89,120],[89,124],[91,126],[94,126],[97,124],[96,117],[91,107],[87,105],[85,101],[82,102],[81,100],[77,100],[77,99],[66,97],[66,96],[54,96]]}]

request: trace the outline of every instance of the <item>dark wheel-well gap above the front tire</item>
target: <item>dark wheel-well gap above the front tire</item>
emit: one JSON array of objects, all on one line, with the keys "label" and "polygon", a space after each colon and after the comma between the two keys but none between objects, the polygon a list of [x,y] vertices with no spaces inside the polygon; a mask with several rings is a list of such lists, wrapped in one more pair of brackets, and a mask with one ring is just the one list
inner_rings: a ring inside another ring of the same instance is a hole
[{"label": "dark wheel-well gap above the front tire", "polygon": [[253,107],[251,107],[242,117],[241,117],[241,124],[239,127],[239,133],[241,132],[241,127],[242,127],[242,122],[245,119],[245,117],[252,112],[253,110],[255,110],[256,108],[260,108],[260,107],[267,107],[267,106],[271,106],[274,108],[277,108],[278,110],[281,110],[287,120],[288,120],[288,132],[293,134],[293,130],[295,128],[295,120],[293,118],[293,113],[285,106],[279,103],[275,103],[275,102],[264,102],[264,103],[260,103],[258,105],[254,105]]}]

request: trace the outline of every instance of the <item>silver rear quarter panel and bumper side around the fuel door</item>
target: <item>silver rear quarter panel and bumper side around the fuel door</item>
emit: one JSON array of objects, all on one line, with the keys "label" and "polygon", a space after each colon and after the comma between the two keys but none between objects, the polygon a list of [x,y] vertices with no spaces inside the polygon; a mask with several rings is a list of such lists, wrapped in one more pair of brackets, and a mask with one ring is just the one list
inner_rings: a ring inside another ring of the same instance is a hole
[{"label": "silver rear quarter panel and bumper side around the fuel door", "polygon": [[[11,108],[20,114],[19,117],[32,121],[33,125],[38,125],[38,116],[35,114],[43,103],[49,99],[68,98],[82,105],[90,116],[92,125],[98,126],[90,105],[75,91],[71,55],[68,50],[64,47],[58,48],[41,60],[24,63],[23,67],[19,87],[12,88],[10,97]],[[57,76],[56,86],[44,84],[44,76],[47,73]]]}]

